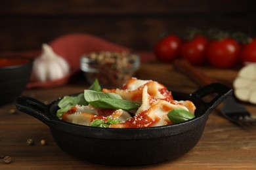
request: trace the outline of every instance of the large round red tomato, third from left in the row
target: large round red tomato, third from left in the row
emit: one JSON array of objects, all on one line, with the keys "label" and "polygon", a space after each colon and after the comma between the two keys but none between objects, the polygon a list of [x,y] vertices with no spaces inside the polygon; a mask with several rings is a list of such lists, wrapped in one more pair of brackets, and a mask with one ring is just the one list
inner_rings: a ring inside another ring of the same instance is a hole
[{"label": "large round red tomato, third from left in the row", "polygon": [[234,39],[224,38],[210,42],[207,48],[207,59],[211,65],[226,69],[234,66],[239,59],[241,47]]}]

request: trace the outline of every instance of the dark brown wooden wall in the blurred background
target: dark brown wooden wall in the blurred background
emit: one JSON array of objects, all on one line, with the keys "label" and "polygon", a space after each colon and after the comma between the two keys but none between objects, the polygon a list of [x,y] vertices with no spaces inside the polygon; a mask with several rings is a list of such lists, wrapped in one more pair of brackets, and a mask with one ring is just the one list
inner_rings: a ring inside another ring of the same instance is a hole
[{"label": "dark brown wooden wall in the blurred background", "polygon": [[251,0],[9,0],[0,5],[0,52],[41,48],[68,33],[89,33],[134,50],[151,50],[161,32],[187,27],[256,35]]}]

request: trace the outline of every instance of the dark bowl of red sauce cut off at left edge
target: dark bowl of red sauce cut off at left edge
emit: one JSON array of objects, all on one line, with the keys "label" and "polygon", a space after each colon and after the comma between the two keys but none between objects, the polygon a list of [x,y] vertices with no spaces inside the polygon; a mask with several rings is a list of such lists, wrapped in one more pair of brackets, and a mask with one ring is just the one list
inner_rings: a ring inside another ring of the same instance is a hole
[{"label": "dark bowl of red sauce cut off at left edge", "polygon": [[30,58],[0,57],[0,105],[14,102],[26,88],[32,65]]}]

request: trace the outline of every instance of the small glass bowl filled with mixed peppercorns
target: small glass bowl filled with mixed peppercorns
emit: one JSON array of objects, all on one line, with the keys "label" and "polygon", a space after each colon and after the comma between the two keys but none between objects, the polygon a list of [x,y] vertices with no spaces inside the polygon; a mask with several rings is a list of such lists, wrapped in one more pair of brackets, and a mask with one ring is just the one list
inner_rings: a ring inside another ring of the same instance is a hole
[{"label": "small glass bowl filled with mixed peppercorns", "polygon": [[80,67],[90,84],[97,78],[102,86],[114,87],[135,74],[140,58],[128,52],[91,52],[81,57]]}]

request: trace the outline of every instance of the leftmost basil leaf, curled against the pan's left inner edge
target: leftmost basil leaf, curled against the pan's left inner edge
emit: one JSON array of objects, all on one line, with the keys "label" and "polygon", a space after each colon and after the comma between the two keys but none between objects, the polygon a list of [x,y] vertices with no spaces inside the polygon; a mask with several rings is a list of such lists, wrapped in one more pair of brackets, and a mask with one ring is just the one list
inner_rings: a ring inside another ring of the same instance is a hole
[{"label": "leftmost basil leaf, curled against the pan's left inner edge", "polygon": [[60,107],[60,109],[57,110],[56,116],[61,118],[62,114],[68,111],[71,107],[74,107],[74,105],[88,105],[83,93],[76,96],[64,96],[63,99],[58,102],[58,107]]}]

